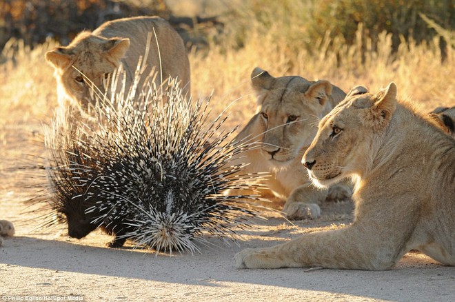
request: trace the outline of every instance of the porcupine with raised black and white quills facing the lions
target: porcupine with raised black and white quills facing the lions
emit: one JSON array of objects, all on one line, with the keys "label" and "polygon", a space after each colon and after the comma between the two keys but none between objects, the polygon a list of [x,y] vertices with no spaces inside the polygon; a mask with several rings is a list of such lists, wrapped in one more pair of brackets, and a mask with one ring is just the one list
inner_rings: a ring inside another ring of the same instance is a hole
[{"label": "porcupine with raised black and white quills facing the lions", "polygon": [[[99,226],[159,251],[199,251],[192,239],[204,231],[233,236],[234,225],[253,217],[254,195],[223,196],[228,189],[254,190],[261,175],[241,175],[229,165],[245,145],[219,132],[226,117],[208,121],[208,101],[182,97],[175,82],[162,92],[148,87],[114,100],[97,99],[93,121],[58,123],[46,142],[52,150],[48,179],[52,208],[65,214],[68,234],[82,238]],[[112,105],[114,104],[114,105]],[[94,126],[96,124],[96,126]]]}]

